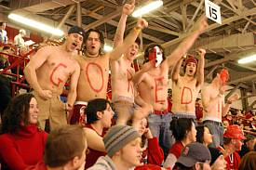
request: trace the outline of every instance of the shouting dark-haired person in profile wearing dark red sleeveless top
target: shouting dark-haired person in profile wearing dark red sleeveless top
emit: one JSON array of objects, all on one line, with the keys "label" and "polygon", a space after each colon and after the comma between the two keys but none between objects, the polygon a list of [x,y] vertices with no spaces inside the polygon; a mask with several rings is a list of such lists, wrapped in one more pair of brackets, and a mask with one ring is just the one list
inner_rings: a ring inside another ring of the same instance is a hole
[{"label": "shouting dark-haired person in profile wearing dark red sleeveless top", "polygon": [[104,98],[95,98],[88,101],[85,110],[87,122],[85,131],[88,137],[88,155],[86,169],[92,166],[100,156],[106,154],[102,137],[106,130],[112,124],[114,111],[112,111],[110,102]]}]

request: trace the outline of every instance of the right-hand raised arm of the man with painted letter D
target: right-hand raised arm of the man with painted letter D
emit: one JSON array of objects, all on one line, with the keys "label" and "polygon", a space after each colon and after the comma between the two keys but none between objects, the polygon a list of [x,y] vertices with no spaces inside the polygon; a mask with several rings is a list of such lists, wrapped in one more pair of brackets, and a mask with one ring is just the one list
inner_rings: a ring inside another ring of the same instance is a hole
[{"label": "right-hand raised arm of the man with painted letter D", "polygon": [[199,53],[199,61],[198,61],[198,67],[196,72],[196,86],[201,86],[204,84],[204,68],[205,68],[205,55],[206,50],[203,48],[198,49]]}]

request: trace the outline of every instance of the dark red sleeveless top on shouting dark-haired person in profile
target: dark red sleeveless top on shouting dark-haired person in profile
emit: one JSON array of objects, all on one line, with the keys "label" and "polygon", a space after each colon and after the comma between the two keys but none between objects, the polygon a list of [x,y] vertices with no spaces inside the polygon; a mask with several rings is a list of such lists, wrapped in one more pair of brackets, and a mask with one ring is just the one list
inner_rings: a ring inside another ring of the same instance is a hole
[{"label": "dark red sleeveless top on shouting dark-haired person in profile", "polygon": [[[95,131],[95,129],[91,126],[91,124],[86,124],[86,127],[92,129]],[[106,134],[106,129],[103,129],[102,134],[98,134],[101,137],[104,137]],[[96,131],[95,131],[96,132]],[[93,150],[88,147],[88,153],[87,153],[87,161],[85,165],[85,169],[88,169],[88,167],[92,166],[96,161],[98,160],[99,157],[105,156],[107,153],[104,151],[99,151],[99,150]]]}]

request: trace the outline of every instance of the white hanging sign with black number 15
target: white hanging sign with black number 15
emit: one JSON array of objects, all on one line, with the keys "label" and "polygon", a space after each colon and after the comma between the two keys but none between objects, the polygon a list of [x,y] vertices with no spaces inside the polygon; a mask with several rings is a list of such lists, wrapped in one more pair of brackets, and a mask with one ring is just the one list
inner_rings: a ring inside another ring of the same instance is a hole
[{"label": "white hanging sign with black number 15", "polygon": [[205,7],[207,18],[222,24],[221,7],[210,2],[209,0],[205,0]]}]

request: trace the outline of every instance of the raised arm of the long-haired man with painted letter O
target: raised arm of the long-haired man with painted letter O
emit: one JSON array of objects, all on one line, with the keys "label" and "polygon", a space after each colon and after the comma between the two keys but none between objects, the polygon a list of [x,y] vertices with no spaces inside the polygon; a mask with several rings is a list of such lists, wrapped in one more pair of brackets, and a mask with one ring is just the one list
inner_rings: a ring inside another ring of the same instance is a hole
[{"label": "raised arm of the long-haired man with painted letter O", "polygon": [[148,22],[143,19],[139,19],[137,22],[136,27],[132,29],[130,33],[128,33],[128,36],[124,40],[124,42],[118,46],[115,47],[115,49],[108,53],[110,59],[120,59],[121,55],[124,54],[128,47],[135,42],[136,38],[138,37],[139,33],[141,33],[141,29],[148,26]]}]

